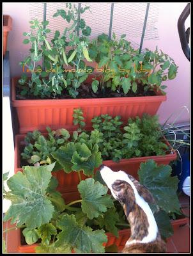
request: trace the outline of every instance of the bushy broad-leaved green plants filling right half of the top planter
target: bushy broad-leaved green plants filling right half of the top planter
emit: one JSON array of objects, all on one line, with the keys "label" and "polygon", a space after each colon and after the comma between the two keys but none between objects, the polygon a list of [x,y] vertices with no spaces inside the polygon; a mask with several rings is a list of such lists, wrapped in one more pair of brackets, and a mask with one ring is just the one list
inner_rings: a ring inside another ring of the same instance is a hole
[{"label": "bushy broad-leaved green plants filling right half of the top planter", "polygon": [[126,35],[121,35],[118,40],[113,33],[112,39],[102,34],[89,44],[89,54],[98,64],[98,72],[102,77],[100,82],[93,79],[93,92],[111,88],[113,92],[137,93],[138,88],[147,90],[161,90],[164,93],[166,85],[162,85],[167,79],[176,77],[178,67],[174,60],[157,48],[154,52],[145,49],[139,54],[130,42],[125,40]]}]

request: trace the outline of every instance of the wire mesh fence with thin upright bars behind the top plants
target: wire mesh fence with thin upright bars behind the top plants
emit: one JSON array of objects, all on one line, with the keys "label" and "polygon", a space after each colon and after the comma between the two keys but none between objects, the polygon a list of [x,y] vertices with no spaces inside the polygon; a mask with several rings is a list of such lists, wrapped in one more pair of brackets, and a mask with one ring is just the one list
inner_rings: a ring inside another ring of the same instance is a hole
[{"label": "wire mesh fence with thin upright bars behind the top plants", "polygon": [[[46,20],[49,20],[48,27],[51,30],[47,38],[50,40],[56,30],[62,34],[66,26],[70,26],[61,17],[53,17],[57,10],[66,10],[66,3],[46,3],[46,10],[43,9],[43,4],[29,3],[29,15],[31,20],[43,21],[43,13],[46,11]],[[79,3],[73,4],[78,8]],[[112,31],[111,33],[115,33],[118,38],[126,34],[126,39],[131,42],[131,45],[139,49],[147,3],[114,3],[113,12],[112,3],[81,3],[81,7],[85,6],[90,6],[91,12],[87,10],[81,13],[81,19],[84,19],[86,25],[92,29],[89,36],[91,40],[102,33],[109,35],[109,31]],[[144,40],[158,40],[158,12],[159,3],[150,3]]]}]

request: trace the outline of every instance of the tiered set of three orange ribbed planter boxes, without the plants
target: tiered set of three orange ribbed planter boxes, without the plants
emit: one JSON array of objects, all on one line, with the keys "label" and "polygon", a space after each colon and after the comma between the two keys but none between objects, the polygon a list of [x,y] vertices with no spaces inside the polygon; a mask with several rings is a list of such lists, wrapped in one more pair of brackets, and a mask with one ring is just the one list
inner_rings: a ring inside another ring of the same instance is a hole
[{"label": "tiered set of three orange ribbed planter boxes, without the plants", "polygon": [[[108,114],[112,117],[121,115],[123,122],[127,122],[129,117],[142,116],[143,113],[155,115],[160,104],[166,100],[166,95],[157,93],[156,96],[149,97],[124,97],[124,98],[107,98],[107,99],[62,99],[62,100],[17,100],[15,93],[15,86],[18,78],[12,79],[12,106],[16,109],[19,119],[20,135],[15,136],[15,173],[21,171],[20,166],[20,150],[22,145],[20,142],[24,140],[26,132],[38,129],[45,132],[45,127],[49,126],[51,129],[65,128],[73,129],[73,109],[81,108],[86,122],[86,128],[91,128],[91,119],[94,116]],[[168,141],[166,141],[169,145]],[[112,170],[123,170],[130,173],[138,179],[137,170],[139,165],[148,159],[153,159],[159,164],[169,164],[170,161],[176,159],[176,152],[173,154],[166,154],[166,156],[151,156],[151,157],[135,157],[133,159],[121,159],[119,163],[113,161],[104,161],[103,164],[109,166]],[[97,172],[97,170],[95,170]],[[79,199],[77,191],[77,184],[79,184],[79,177],[76,172],[65,173],[63,170],[52,172],[58,181],[58,190],[63,193],[65,202]],[[82,179],[87,177],[82,175]],[[183,219],[183,223],[187,223]],[[178,223],[176,225],[179,225]],[[175,223],[173,222],[173,227]],[[20,243],[20,230],[15,230],[17,236],[16,249],[20,253],[33,253],[37,244],[31,246],[24,246]],[[13,234],[13,232],[12,232]],[[108,242],[104,244],[110,246],[116,244],[121,250],[128,237],[130,230],[120,230],[119,237],[107,233]]]}]

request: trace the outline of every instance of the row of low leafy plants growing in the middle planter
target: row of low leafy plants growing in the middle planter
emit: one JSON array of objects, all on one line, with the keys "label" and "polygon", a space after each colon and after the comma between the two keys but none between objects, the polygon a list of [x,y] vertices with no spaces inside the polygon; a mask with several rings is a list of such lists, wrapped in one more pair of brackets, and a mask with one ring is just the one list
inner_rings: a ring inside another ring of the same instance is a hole
[{"label": "row of low leafy plants growing in the middle planter", "polygon": [[[51,131],[49,127],[47,138],[39,131],[28,132],[22,159],[29,164],[50,164],[56,159],[58,170],[64,168],[66,172],[72,166],[73,170],[76,168],[78,171],[82,164],[88,164],[84,168],[90,168],[90,172],[93,172],[101,159],[119,161],[131,157],[164,155],[169,149],[162,141],[158,116],[144,114],[142,118],[129,118],[128,125],[123,128],[121,116],[112,118],[106,114],[96,116],[91,122],[93,131],[85,131],[83,112],[79,108],[73,111],[73,124],[77,125],[77,130],[71,136],[66,129]],[[85,156],[81,156],[81,150]]]}]

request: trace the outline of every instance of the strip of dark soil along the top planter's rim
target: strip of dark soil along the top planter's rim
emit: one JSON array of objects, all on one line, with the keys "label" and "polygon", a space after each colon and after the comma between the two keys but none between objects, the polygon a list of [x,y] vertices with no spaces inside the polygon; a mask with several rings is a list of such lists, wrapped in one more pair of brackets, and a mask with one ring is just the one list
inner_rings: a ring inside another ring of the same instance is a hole
[{"label": "strip of dark soil along the top planter's rim", "polygon": [[[155,96],[156,93],[154,92],[154,90],[147,90],[144,91],[144,84],[138,84],[138,89],[137,92],[132,92],[132,90],[130,90],[127,94],[123,93],[123,90],[121,89],[121,92],[112,92],[112,90],[110,88],[105,88],[105,92],[102,92],[102,90],[98,90],[96,93],[93,92],[91,85],[90,84],[82,84],[82,86],[80,86],[77,89],[77,92],[79,92],[79,95],[77,95],[76,99],[96,99],[96,98],[116,98],[116,97],[143,97],[143,96]],[[30,95],[30,96],[21,96],[20,92],[22,91],[21,88],[16,88],[16,99],[19,100],[24,100],[24,99],[42,99],[40,97],[36,97],[34,95]],[[68,92],[66,92],[66,90],[63,90],[63,92],[61,93],[61,95],[56,95],[56,97],[54,98],[54,96],[51,97],[45,97],[43,99],[73,99]]]}]

